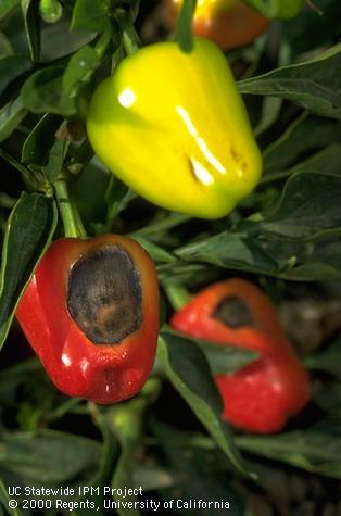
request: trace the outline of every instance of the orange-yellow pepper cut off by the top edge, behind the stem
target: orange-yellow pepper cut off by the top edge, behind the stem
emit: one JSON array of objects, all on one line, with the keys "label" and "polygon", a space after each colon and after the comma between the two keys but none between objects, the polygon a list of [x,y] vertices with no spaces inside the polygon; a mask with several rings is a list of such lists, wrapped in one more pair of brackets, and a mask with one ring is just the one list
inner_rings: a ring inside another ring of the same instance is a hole
[{"label": "orange-yellow pepper cut off by the top edge, behind the stem", "polygon": [[[166,21],[171,28],[176,24],[184,0],[166,0]],[[199,0],[192,32],[209,38],[223,50],[251,43],[263,34],[269,20],[239,0]]]}]

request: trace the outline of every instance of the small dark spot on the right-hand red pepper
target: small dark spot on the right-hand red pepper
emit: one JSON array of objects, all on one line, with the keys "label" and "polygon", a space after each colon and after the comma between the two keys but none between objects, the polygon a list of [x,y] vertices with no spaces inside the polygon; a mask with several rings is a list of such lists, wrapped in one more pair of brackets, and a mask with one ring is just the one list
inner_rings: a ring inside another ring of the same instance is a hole
[{"label": "small dark spot on the right-hand red pepper", "polygon": [[244,300],[238,295],[227,295],[222,299],[212,313],[212,317],[229,328],[255,326],[252,312]]}]

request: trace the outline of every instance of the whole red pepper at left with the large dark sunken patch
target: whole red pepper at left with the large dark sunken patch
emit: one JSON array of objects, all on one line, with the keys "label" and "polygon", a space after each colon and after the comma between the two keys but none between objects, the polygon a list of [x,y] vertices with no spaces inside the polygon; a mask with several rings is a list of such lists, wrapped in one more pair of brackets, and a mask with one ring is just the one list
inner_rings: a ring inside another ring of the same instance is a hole
[{"label": "whole red pepper at left with the large dark sunken patch", "polygon": [[135,395],[153,366],[159,288],[148,253],[116,235],[54,241],[16,317],[53,383],[109,404]]}]

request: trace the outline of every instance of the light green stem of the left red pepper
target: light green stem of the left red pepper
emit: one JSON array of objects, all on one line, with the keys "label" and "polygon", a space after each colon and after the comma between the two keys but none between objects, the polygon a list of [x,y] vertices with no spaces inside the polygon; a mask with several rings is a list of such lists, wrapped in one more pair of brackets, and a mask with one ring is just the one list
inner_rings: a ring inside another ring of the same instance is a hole
[{"label": "light green stem of the left red pepper", "polygon": [[66,238],[86,238],[87,234],[80,219],[78,210],[72,203],[66,181],[59,177],[54,183],[55,198],[60,214],[64,225],[64,235]]}]

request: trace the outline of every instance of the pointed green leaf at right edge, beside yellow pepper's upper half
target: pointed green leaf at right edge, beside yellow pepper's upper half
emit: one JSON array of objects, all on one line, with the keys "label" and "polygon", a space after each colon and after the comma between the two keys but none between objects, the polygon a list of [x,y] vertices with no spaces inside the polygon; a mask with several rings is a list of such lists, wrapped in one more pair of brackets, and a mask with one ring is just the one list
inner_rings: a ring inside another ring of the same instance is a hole
[{"label": "pointed green leaf at right edge, beside yellow pepper's upper half", "polygon": [[241,93],[290,100],[312,113],[341,118],[341,45],[317,59],[238,83]]}]

